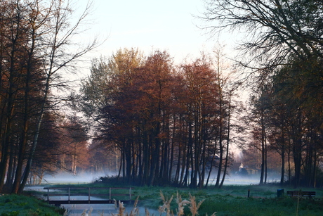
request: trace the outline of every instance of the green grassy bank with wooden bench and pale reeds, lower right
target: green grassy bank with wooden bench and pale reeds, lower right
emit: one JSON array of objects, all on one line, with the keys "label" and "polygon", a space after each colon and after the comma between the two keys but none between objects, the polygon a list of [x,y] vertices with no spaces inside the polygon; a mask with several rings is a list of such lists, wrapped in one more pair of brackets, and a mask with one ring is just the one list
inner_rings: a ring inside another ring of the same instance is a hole
[{"label": "green grassy bank with wooden bench and pale reeds, lower right", "polygon": [[[111,185],[96,183],[77,186],[96,187]],[[299,190],[289,187],[282,188],[275,185],[223,186],[223,189],[215,189],[213,186],[210,186],[209,189],[143,186],[134,187],[133,193],[138,198],[139,207],[158,210],[163,206],[165,212],[162,215],[166,215],[168,210],[165,208],[166,205],[169,205],[170,215],[172,212],[173,214],[177,214],[179,211],[179,203],[185,203],[184,201],[187,201],[185,207],[183,207],[184,214],[193,215],[190,209],[192,207],[192,198],[195,200],[196,208],[202,202],[197,210],[199,215],[212,215],[214,212],[216,212],[217,216],[322,215],[322,189],[301,188],[303,191],[316,191],[316,196],[315,198],[301,198],[299,201],[297,198],[287,196],[277,198],[277,189],[284,189],[285,195],[286,191]],[[249,198],[248,191],[250,194]],[[178,200],[179,197],[182,198],[182,201]],[[126,215],[126,212],[121,212],[121,215]],[[150,213],[150,215],[152,214]]]}]

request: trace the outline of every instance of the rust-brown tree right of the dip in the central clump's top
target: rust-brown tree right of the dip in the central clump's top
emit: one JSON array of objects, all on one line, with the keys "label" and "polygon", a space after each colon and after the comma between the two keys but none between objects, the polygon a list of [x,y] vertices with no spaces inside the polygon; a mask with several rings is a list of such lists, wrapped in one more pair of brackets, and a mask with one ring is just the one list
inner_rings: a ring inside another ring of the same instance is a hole
[{"label": "rust-brown tree right of the dip in the central clump's top", "polygon": [[[218,76],[211,61],[206,56],[198,58],[191,64],[183,65],[186,99],[185,118],[187,134],[187,165],[184,182],[187,181],[191,168],[192,187],[203,187],[206,177],[206,164],[213,166],[216,144],[221,140],[220,93]],[[213,155],[212,155],[212,151]],[[207,154],[208,153],[208,154]],[[210,155],[209,155],[210,154]],[[210,161],[211,159],[211,161]],[[211,169],[209,170],[211,172]],[[199,180],[199,182],[197,182]]]}]

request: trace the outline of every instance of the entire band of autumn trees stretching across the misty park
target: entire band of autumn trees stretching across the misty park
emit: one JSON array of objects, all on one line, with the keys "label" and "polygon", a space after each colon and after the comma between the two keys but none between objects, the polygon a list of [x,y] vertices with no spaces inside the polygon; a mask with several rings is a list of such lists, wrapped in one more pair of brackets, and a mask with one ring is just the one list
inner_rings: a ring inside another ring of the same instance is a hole
[{"label": "entire band of autumn trees stretching across the misty park", "polygon": [[[20,193],[58,169],[111,165],[128,184],[202,188],[215,174],[221,187],[238,142],[242,160],[261,158],[261,184],[269,155],[279,155],[282,184],[321,186],[322,1],[205,2],[206,30],[246,36],[235,74],[221,49],[180,65],[165,51],[120,49],[93,59],[80,95],[62,99],[65,69],[77,71],[97,45],[74,41],[91,6],[75,19],[71,1],[1,1],[0,192]],[[242,116],[243,84],[253,93]],[[63,101],[87,122],[65,115]]]}]

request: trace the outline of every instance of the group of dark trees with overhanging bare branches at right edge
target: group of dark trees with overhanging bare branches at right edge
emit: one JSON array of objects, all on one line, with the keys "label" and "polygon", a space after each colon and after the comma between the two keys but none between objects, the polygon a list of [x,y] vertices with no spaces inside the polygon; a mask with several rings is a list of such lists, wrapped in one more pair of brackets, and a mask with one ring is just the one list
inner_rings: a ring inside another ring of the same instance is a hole
[{"label": "group of dark trees with overhanging bare branches at right edge", "polygon": [[251,146],[261,153],[261,184],[267,153],[276,151],[282,184],[322,185],[322,10],[317,0],[206,1],[206,30],[245,36],[237,63],[254,83]]}]

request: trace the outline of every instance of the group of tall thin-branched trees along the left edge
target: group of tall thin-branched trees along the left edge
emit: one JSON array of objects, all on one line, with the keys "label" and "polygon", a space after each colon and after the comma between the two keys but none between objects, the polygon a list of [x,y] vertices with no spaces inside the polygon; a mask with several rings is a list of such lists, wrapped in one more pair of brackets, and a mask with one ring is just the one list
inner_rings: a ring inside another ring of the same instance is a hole
[{"label": "group of tall thin-branched trees along the left edge", "polygon": [[96,46],[95,40],[86,46],[72,42],[90,5],[72,23],[70,4],[62,0],[0,2],[1,193],[21,193],[32,169],[44,166],[41,161],[50,163],[60,152],[51,140],[59,127],[54,120],[58,120],[55,111],[60,104],[52,89],[66,86],[64,69]]}]

